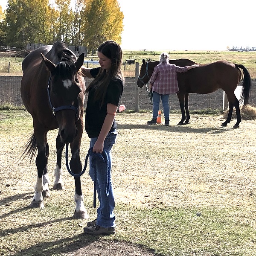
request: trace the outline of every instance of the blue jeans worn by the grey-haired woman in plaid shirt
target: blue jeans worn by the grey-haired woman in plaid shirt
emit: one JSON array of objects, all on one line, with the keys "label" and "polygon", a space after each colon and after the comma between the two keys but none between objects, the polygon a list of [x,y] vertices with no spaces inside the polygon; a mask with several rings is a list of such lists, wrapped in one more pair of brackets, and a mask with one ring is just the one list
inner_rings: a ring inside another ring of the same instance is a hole
[{"label": "blue jeans worn by the grey-haired woman in plaid shirt", "polygon": [[160,98],[162,99],[163,103],[164,119],[169,120],[169,94],[159,94],[157,92],[153,92],[153,118],[157,118],[158,116]]}]

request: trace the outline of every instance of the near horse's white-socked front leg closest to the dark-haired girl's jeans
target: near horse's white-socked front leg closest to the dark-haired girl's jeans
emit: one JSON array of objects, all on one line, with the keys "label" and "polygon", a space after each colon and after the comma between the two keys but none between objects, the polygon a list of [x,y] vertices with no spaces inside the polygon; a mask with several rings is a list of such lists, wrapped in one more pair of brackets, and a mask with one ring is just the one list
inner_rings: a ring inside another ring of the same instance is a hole
[{"label": "near horse's white-socked front leg closest to the dark-haired girl's jeans", "polygon": [[[79,131],[76,140],[70,144],[71,148],[71,160],[70,160],[70,169],[74,174],[79,174],[82,171],[82,165],[80,161],[80,143],[81,143],[82,130]],[[84,196],[81,189],[81,179],[80,177],[75,177],[75,203],[76,208],[74,212],[74,218],[76,219],[86,219],[89,218],[87,210],[84,207]]]}]

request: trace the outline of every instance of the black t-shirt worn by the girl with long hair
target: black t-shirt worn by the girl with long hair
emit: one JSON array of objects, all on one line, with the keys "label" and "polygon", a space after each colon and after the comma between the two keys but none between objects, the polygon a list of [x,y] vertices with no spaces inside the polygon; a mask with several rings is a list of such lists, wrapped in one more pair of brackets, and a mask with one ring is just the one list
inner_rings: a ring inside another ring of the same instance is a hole
[{"label": "black t-shirt worn by the girl with long hair", "polygon": [[[95,78],[99,73],[100,67],[92,68],[90,74]],[[111,103],[118,106],[119,100],[123,92],[123,82],[119,78],[113,78],[108,84],[107,93],[104,103],[101,108],[99,101],[94,101],[95,89],[91,88],[88,93],[87,107],[85,112],[85,131],[89,138],[99,137],[103,122],[107,115],[107,104]],[[113,125],[109,131],[112,132],[116,129],[116,120],[114,119]]]}]

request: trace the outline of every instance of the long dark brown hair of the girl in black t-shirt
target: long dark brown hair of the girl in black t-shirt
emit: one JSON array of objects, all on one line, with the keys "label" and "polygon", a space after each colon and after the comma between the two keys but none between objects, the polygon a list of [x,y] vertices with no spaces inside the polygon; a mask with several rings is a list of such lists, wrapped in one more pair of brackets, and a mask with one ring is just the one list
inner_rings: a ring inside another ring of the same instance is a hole
[{"label": "long dark brown hair of the girl in black t-shirt", "polygon": [[96,78],[89,84],[85,92],[89,92],[91,88],[96,88],[94,94],[94,101],[100,100],[102,107],[104,103],[104,98],[108,89],[109,82],[114,78],[119,78],[124,81],[124,77],[121,70],[122,65],[122,49],[115,41],[109,40],[103,42],[99,48],[98,52],[101,52],[107,58],[111,59],[111,68],[106,72],[100,68]]}]

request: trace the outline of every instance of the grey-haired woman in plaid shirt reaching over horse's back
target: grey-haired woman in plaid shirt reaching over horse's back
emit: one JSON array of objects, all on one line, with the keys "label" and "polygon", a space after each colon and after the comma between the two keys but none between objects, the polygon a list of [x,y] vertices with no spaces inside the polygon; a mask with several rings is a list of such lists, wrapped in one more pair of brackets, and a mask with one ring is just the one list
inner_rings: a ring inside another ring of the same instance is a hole
[{"label": "grey-haired woman in plaid shirt reaching over horse's back", "polygon": [[160,99],[163,103],[164,125],[169,125],[169,95],[179,92],[177,72],[186,72],[198,66],[195,64],[187,67],[179,67],[175,64],[169,64],[169,54],[166,52],[161,53],[160,64],[154,68],[149,82],[149,88],[153,92],[153,118],[148,121],[149,125],[157,124]]}]

